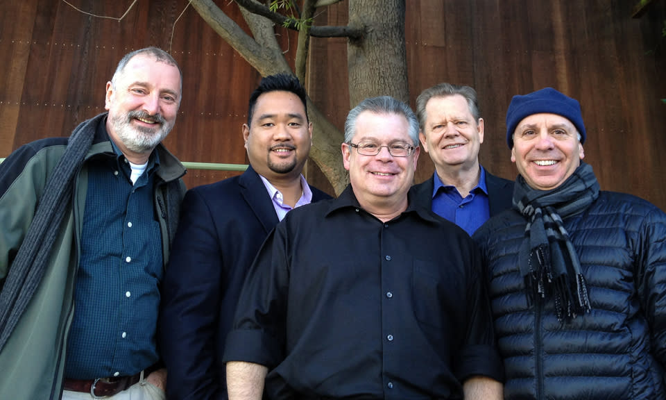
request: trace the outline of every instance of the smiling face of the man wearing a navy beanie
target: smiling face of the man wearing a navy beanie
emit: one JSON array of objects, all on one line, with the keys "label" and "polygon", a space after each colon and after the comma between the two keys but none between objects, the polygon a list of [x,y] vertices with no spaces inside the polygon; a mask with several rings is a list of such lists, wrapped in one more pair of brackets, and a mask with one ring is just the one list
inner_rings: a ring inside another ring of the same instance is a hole
[{"label": "smiling face of the man wearing a navy beanie", "polygon": [[530,188],[557,188],[584,157],[576,127],[560,115],[530,115],[513,132],[511,161]]}]

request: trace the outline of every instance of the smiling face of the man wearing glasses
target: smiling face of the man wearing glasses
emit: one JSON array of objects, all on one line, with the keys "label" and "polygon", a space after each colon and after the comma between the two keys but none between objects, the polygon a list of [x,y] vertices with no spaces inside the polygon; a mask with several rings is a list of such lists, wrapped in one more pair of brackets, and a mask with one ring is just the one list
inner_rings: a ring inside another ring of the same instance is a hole
[{"label": "smiling face of the man wearing glasses", "polygon": [[[413,145],[404,115],[371,111],[358,115],[351,142]],[[349,171],[354,194],[364,209],[377,216],[382,214],[377,210],[402,211],[407,207],[407,192],[413,183],[419,150],[420,147],[416,147],[407,157],[394,157],[382,147],[377,155],[364,156],[349,144],[342,144],[345,169]]]}]

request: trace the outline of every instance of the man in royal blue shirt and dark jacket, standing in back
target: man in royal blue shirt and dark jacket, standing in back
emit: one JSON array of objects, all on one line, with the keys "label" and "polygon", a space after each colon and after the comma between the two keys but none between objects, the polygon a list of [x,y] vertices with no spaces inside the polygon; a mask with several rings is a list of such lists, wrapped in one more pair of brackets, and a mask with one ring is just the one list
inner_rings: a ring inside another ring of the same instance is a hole
[{"label": "man in royal blue shirt and dark jacket, standing in back", "polygon": [[416,99],[422,148],[435,165],[427,181],[411,188],[421,206],[459,225],[469,235],[493,215],[511,208],[513,181],[479,164],[484,142],[477,92],[440,83]]}]

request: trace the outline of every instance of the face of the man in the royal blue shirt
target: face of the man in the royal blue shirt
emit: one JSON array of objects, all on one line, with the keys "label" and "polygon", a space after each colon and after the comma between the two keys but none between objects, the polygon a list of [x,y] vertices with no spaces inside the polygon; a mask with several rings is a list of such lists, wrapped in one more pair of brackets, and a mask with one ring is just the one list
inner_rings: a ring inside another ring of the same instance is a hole
[{"label": "face of the man in the royal blue shirt", "polygon": [[428,100],[419,138],[439,176],[447,175],[443,169],[449,168],[479,170],[484,119],[475,119],[467,100],[460,94]]}]

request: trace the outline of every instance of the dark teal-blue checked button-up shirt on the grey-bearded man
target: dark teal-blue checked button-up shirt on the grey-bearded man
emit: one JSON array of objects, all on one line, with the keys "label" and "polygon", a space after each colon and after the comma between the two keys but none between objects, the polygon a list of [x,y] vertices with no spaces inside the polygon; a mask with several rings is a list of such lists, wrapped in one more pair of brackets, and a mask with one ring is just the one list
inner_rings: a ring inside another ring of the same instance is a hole
[{"label": "dark teal-blue checked button-up shirt on the grey-bearded man", "polygon": [[115,154],[89,160],[65,376],[128,376],[157,362],[162,239],[153,211],[157,153],[133,185]]}]

